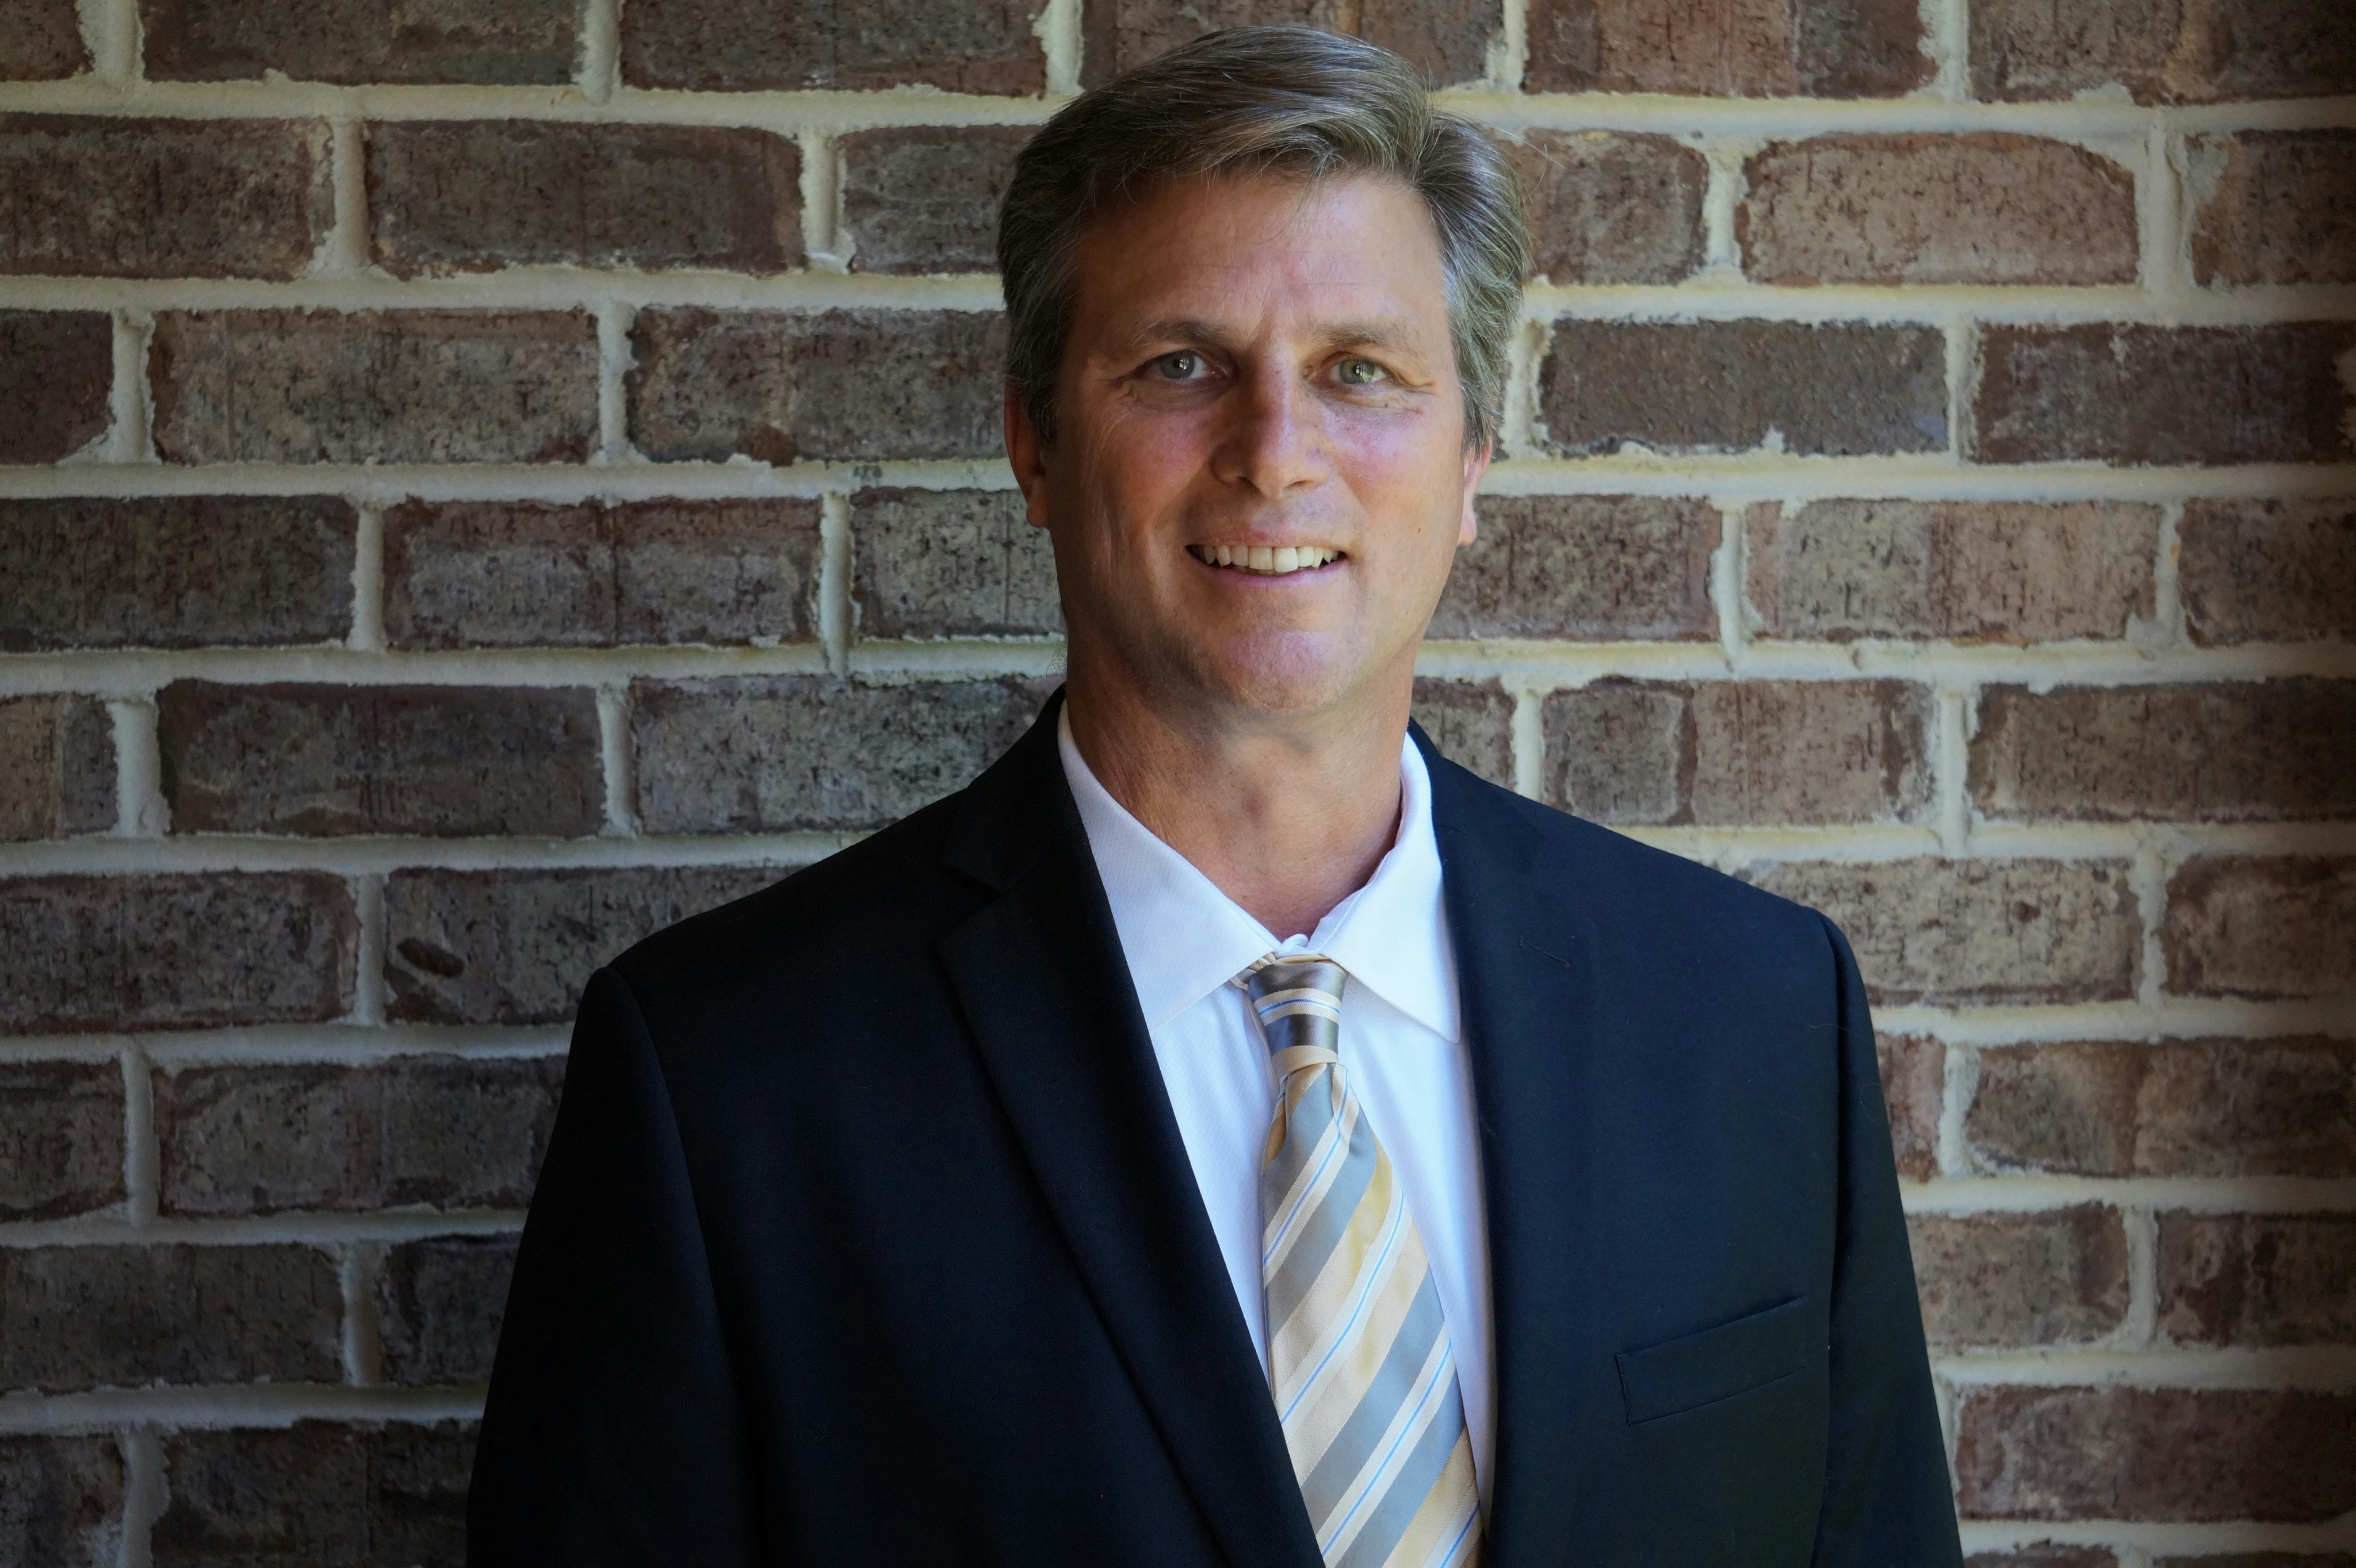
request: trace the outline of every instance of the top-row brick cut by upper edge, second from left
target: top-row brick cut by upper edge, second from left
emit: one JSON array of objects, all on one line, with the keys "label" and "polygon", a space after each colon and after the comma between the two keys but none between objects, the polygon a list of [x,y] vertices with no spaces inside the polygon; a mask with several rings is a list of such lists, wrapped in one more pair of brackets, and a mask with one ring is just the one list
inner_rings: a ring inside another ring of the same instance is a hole
[{"label": "top-row brick cut by upper edge, second from left", "polygon": [[139,0],[146,73],[231,82],[561,87],[580,49],[568,0]]}]

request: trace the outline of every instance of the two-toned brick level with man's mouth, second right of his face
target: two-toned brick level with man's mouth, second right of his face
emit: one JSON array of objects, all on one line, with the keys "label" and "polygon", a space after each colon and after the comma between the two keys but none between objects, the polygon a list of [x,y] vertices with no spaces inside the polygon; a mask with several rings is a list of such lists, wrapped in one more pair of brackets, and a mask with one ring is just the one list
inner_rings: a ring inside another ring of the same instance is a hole
[{"label": "two-toned brick level with man's mouth, second right of his face", "polygon": [[2151,619],[2158,506],[1758,501],[1743,527],[1769,638],[2050,643]]}]

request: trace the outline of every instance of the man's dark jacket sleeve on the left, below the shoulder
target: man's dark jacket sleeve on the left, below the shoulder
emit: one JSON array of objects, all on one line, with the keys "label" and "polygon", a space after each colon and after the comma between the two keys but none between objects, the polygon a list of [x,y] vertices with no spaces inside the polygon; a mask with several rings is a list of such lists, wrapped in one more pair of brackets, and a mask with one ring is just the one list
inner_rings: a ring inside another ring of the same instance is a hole
[{"label": "man's dark jacket sleeve on the left, below the shoulder", "polygon": [[582,996],[466,1497],[471,1568],[752,1563],[695,1196],[629,986]]}]

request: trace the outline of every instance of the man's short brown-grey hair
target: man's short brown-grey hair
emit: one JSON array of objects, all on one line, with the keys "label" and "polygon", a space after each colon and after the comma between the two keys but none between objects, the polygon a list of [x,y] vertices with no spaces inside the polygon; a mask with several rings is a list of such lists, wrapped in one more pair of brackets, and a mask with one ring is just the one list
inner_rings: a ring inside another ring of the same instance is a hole
[{"label": "man's short brown-grey hair", "polygon": [[1496,438],[1505,351],[1529,275],[1522,186],[1470,120],[1437,113],[1414,66],[1317,28],[1211,33],[1079,94],[1015,158],[999,207],[1006,377],[1041,440],[1072,323],[1081,231],[1166,179],[1388,174],[1440,233],[1465,445]]}]

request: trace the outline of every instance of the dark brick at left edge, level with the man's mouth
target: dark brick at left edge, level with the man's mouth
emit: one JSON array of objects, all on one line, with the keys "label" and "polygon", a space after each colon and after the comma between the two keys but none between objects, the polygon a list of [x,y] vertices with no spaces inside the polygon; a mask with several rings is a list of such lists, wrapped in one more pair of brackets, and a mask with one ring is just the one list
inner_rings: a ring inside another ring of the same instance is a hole
[{"label": "dark brick at left edge, level with the man's mouth", "polygon": [[0,501],[0,650],[339,643],[356,532],[335,497]]}]

